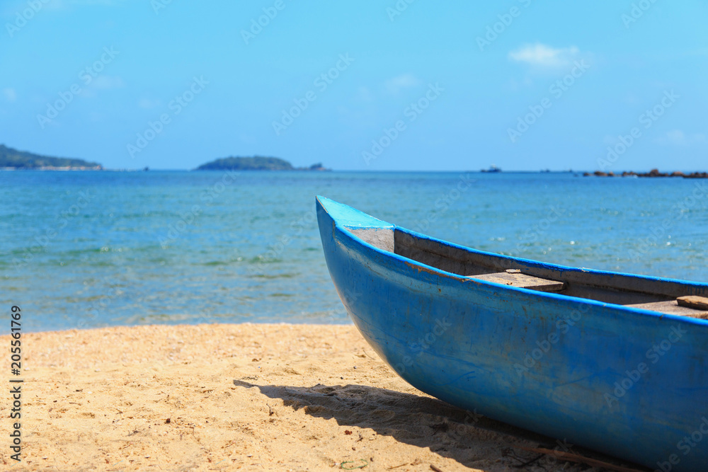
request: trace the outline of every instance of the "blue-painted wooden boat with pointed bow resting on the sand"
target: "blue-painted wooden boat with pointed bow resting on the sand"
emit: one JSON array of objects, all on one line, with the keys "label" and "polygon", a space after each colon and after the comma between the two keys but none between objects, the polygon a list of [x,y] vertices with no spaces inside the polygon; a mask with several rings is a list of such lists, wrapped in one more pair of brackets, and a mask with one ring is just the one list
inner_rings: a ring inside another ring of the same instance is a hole
[{"label": "blue-painted wooden boat with pointed bow resting on the sand", "polygon": [[655,470],[708,470],[708,284],[474,251],[316,206],[344,306],[411,385]]}]

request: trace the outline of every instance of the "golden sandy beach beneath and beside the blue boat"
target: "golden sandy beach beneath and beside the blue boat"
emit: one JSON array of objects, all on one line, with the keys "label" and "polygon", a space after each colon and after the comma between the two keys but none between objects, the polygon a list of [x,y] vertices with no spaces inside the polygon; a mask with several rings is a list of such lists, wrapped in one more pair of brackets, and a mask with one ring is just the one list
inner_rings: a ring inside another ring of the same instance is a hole
[{"label": "golden sandy beach beneath and beside the blue boat", "polygon": [[139,326],[22,340],[22,462],[4,434],[3,470],[601,470],[527,451],[562,449],[409,386],[353,326]]}]

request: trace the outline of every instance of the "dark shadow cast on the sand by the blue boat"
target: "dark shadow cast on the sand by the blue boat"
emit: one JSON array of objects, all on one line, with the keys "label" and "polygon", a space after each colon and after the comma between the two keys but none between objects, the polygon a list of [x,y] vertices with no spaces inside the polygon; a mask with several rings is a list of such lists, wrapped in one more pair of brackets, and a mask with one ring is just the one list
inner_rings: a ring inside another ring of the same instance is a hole
[{"label": "dark shadow cast on the sand by the blue boat", "polygon": [[[258,388],[268,398],[279,398],[293,410],[339,425],[370,428],[396,441],[429,448],[435,454],[484,471],[587,471],[584,464],[557,461],[523,447],[555,449],[619,464],[616,459],[572,447],[561,441],[461,410],[427,396],[365,385],[312,387],[258,385],[234,380],[234,385]],[[411,459],[413,461],[413,459]],[[635,470],[641,466],[629,465]],[[603,470],[593,468],[594,471]]]}]

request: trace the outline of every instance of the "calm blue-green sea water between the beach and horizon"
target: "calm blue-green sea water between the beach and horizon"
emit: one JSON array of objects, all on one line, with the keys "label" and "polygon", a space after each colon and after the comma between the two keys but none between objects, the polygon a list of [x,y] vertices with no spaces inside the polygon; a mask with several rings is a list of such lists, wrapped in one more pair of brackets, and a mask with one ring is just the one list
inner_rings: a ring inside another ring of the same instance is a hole
[{"label": "calm blue-green sea water between the beach and horizon", "polygon": [[484,251],[708,282],[706,180],[8,171],[0,172],[0,306],[20,305],[30,331],[348,323],[322,254],[315,195]]}]

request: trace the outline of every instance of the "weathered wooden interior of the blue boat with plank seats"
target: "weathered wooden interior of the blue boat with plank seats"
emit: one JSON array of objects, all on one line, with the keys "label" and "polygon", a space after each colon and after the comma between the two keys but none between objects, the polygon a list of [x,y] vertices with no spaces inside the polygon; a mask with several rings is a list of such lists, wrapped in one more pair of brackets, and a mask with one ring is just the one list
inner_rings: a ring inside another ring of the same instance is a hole
[{"label": "weathered wooden interior of the blue boat with plank seats", "polygon": [[708,319],[708,285],[598,273],[480,253],[396,228],[348,229],[382,251],[446,272],[539,292],[552,292],[679,316]]}]

